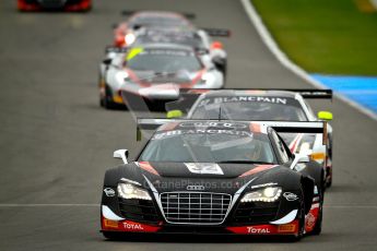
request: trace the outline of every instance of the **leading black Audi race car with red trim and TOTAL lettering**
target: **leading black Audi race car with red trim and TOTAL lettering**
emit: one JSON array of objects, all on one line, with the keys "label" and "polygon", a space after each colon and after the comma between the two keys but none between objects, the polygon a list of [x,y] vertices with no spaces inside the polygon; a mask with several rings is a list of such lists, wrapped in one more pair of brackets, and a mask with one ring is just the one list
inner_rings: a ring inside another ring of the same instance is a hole
[{"label": "leading black Audi race car with red trim and TOTAL lettering", "polygon": [[[321,169],[293,155],[268,122],[141,119],[163,124],[134,162],[106,171],[101,226],[127,234],[319,235]],[[273,122],[279,131],[322,132],[326,122]],[[140,131],[138,133],[140,135]]]}]

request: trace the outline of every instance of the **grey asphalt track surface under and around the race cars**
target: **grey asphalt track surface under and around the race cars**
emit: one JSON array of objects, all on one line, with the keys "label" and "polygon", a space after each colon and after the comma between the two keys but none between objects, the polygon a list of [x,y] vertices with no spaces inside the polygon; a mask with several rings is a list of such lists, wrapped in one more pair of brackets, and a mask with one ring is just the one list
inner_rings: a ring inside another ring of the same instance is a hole
[{"label": "grey asphalt track surface under and around the race cars", "polygon": [[140,148],[130,112],[98,106],[97,63],[123,9],[193,12],[198,26],[232,29],[228,87],[310,87],[278,63],[236,0],[95,1],[84,14],[17,13],[15,1],[1,1],[0,250],[376,250],[376,122],[337,99],[314,104],[335,118],[322,235],[106,241],[104,172],[118,164],[114,150]]}]

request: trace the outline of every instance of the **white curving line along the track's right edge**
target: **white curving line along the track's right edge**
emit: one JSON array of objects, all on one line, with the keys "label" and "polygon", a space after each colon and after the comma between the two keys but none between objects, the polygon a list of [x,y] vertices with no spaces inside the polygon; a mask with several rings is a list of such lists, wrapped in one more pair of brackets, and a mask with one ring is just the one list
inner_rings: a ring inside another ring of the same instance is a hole
[{"label": "white curving line along the track's right edge", "polygon": [[[279,48],[279,46],[276,45],[276,43],[272,38],[271,34],[269,33],[269,31],[264,26],[260,15],[256,11],[256,9],[252,5],[251,1],[250,0],[240,0],[240,2],[244,5],[244,9],[245,9],[247,15],[249,16],[251,23],[257,28],[257,32],[260,35],[262,41],[271,50],[271,52],[276,57],[279,62],[281,64],[283,64],[286,69],[288,69],[292,72],[294,72],[299,77],[302,77],[305,81],[307,81],[309,84],[314,85],[315,87],[317,87],[317,88],[326,88],[326,86],[322,83],[316,81],[307,72],[305,72],[302,68],[299,68],[297,64],[293,63],[286,57],[286,55]],[[377,120],[377,115],[374,111],[372,111],[372,110],[369,110],[369,109],[358,105],[357,103],[355,103],[354,100],[347,98],[346,96],[344,96],[342,94],[335,93],[334,95],[339,99],[341,99],[342,101],[349,104],[350,106],[354,107],[356,110],[361,111],[362,113],[368,116],[369,118],[372,118],[374,120]]]}]

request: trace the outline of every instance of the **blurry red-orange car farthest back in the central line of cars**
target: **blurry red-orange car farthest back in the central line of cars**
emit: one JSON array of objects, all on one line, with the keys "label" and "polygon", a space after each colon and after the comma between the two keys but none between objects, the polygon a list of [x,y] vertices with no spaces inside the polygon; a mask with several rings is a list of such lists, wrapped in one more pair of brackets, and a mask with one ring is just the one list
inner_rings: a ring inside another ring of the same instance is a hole
[{"label": "blurry red-orange car farthest back in the central line of cars", "polygon": [[[126,22],[115,25],[114,46],[125,47],[136,40],[137,31],[141,27],[189,27],[193,25],[185,14],[167,11],[129,11],[131,15]],[[188,14],[190,17],[191,15]]]}]

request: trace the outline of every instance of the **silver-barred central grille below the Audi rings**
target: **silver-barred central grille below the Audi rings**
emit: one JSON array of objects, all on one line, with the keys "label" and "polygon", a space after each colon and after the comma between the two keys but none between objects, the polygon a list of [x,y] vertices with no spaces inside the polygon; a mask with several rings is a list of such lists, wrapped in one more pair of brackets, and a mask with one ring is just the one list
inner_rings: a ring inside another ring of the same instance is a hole
[{"label": "silver-barred central grille below the Audi rings", "polygon": [[162,193],[160,199],[172,224],[221,224],[232,201],[229,194],[204,192]]}]

